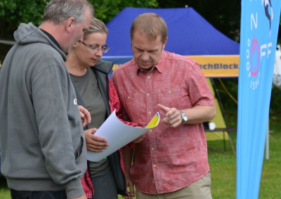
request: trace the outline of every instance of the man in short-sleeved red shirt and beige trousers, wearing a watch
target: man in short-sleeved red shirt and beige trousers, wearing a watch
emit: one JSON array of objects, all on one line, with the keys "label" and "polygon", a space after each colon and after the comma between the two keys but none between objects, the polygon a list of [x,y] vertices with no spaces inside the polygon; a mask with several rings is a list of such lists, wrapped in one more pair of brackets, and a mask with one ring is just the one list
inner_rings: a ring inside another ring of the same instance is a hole
[{"label": "man in short-sleeved red shirt and beige trousers, wearing a watch", "polygon": [[158,111],[162,119],[134,150],[123,149],[127,186],[130,195],[136,186],[137,199],[211,198],[202,122],[216,115],[214,97],[195,60],[164,51],[166,41],[163,18],[138,15],[131,25],[133,60],[112,75],[131,122],[145,127]]}]

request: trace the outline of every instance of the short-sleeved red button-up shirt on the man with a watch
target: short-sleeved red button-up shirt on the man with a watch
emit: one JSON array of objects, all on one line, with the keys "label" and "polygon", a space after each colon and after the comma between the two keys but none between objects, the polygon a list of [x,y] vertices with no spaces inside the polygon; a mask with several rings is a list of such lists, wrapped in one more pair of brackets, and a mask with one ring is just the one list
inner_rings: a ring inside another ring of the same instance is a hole
[{"label": "short-sleeved red button-up shirt on the man with a watch", "polygon": [[[157,103],[179,110],[214,106],[214,97],[200,66],[190,58],[166,51],[150,72],[133,59],[113,72],[112,82],[124,115],[145,127],[159,111]],[[202,124],[176,129],[161,122],[135,145],[131,177],[138,191],[148,194],[177,191],[209,172],[207,141]]]}]

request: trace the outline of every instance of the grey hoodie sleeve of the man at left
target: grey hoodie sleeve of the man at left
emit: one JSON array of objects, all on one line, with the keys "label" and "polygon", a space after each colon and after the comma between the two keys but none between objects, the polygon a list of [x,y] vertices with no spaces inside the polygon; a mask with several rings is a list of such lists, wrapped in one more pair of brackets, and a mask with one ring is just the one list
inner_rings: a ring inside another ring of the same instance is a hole
[{"label": "grey hoodie sleeve of the man at left", "polygon": [[[32,79],[32,99],[48,174],[56,184],[65,186],[67,198],[77,198],[84,194],[80,181],[84,169],[77,165],[85,144],[78,106],[73,103],[74,89],[67,75],[65,65],[44,68]],[[84,159],[80,164],[84,163],[86,170]]]}]

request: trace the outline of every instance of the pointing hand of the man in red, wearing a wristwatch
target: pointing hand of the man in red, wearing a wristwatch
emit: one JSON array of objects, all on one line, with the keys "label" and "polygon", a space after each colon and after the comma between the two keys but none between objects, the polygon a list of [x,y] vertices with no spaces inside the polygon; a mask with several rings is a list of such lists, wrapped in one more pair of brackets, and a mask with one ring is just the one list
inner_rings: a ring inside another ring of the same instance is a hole
[{"label": "pointing hand of the man in red, wearing a wristwatch", "polygon": [[162,123],[176,128],[181,125],[181,112],[176,108],[169,108],[161,104],[157,104],[157,108],[163,110],[166,113],[166,117],[162,120]]}]

